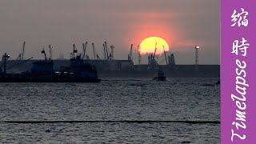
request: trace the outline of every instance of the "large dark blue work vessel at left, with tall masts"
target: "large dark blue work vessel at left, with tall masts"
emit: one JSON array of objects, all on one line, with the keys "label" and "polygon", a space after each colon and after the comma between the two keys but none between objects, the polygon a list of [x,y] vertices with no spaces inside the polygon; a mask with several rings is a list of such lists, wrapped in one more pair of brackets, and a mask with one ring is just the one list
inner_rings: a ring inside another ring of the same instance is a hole
[{"label": "large dark blue work vessel at left, with tall masts", "polygon": [[45,50],[42,50],[45,59],[33,62],[31,72],[22,74],[6,74],[6,61],[10,56],[5,54],[3,56],[3,72],[0,69],[0,82],[101,82],[101,79],[98,79],[96,67],[85,62],[81,58],[81,54],[75,57],[75,53],[77,50],[73,50],[69,67],[55,71],[54,62],[47,59]]}]

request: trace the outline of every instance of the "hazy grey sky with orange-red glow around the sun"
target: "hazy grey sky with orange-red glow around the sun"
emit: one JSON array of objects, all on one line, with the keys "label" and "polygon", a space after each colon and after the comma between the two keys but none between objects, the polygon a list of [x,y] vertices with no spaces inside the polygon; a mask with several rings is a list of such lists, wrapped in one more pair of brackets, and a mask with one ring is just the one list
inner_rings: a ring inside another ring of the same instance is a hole
[{"label": "hazy grey sky with orange-red glow around the sun", "polygon": [[42,58],[42,46],[48,45],[54,46],[54,58],[70,58],[73,43],[81,51],[86,41],[103,57],[106,41],[115,46],[114,58],[127,59],[131,43],[156,36],[166,40],[178,64],[194,64],[194,45],[202,47],[199,64],[220,63],[218,0],[1,0],[0,19],[0,54],[12,58],[23,41],[25,58]]}]

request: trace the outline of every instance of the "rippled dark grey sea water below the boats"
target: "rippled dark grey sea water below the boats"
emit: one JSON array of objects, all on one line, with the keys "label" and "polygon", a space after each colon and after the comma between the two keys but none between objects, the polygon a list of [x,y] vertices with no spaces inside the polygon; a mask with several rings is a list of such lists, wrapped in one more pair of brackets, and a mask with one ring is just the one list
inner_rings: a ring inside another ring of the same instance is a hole
[{"label": "rippled dark grey sea water below the boats", "polygon": [[220,143],[220,86],[201,86],[217,80],[2,83],[0,143]]}]

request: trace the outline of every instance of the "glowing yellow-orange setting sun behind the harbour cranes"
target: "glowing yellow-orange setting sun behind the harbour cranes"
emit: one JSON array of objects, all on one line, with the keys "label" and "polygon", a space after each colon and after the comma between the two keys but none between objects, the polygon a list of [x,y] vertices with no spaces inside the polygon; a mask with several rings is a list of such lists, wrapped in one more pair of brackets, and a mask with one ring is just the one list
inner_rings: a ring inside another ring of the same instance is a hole
[{"label": "glowing yellow-orange setting sun behind the harbour cranes", "polygon": [[154,54],[155,47],[157,47],[157,51],[155,54],[161,55],[163,54],[163,46],[164,50],[169,51],[168,43],[159,37],[149,37],[145,38],[140,44],[140,54]]}]

